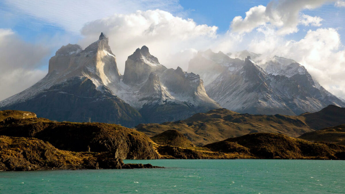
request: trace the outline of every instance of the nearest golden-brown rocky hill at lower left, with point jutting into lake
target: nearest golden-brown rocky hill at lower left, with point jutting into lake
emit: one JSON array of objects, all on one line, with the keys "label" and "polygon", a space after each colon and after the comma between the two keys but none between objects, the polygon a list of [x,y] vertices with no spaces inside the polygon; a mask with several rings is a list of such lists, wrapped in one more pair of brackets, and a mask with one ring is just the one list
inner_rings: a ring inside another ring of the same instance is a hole
[{"label": "nearest golden-brown rocky hill at lower left, with point jutting into lake", "polygon": [[0,136],[0,170],[152,168],[150,164],[124,164],[118,153],[70,152],[36,138]]}]

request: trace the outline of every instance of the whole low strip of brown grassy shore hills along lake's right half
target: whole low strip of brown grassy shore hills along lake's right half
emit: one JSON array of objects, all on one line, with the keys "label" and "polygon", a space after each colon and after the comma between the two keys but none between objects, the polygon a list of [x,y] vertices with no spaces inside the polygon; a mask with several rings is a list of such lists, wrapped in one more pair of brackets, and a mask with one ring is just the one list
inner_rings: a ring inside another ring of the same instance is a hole
[{"label": "whole low strip of brown grassy shore hills along lake's right half", "polygon": [[312,143],[275,133],[253,133],[203,147],[155,146],[170,159],[345,159],[345,146]]}]

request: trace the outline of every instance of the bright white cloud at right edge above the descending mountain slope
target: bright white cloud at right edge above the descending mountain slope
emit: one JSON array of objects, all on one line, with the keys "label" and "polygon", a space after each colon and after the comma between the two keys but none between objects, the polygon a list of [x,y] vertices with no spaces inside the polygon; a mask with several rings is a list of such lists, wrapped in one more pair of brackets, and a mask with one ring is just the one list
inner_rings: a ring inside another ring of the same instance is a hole
[{"label": "bright white cloud at right edge above the descending mountain slope", "polygon": [[345,97],[345,50],[334,28],[309,30],[299,41],[287,41],[281,56],[304,65],[309,73],[333,94]]}]

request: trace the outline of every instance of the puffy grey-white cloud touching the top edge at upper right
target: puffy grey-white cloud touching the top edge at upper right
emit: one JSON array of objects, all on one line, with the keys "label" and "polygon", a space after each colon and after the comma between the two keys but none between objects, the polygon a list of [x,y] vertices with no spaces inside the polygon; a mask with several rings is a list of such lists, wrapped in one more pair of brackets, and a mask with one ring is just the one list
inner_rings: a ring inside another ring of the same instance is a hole
[{"label": "puffy grey-white cloud touching the top edge at upper right", "polygon": [[231,31],[244,33],[270,25],[277,28],[279,35],[298,31],[298,25],[321,26],[322,18],[300,14],[305,9],[315,9],[328,0],[280,0],[270,1],[267,6],[259,5],[249,9],[246,17],[237,16],[231,22]]}]

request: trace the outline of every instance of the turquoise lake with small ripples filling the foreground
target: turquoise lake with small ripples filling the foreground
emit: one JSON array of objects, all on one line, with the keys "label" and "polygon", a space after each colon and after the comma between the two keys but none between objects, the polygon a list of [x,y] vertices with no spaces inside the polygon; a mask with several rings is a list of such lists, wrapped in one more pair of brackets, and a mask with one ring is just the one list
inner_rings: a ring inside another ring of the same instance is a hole
[{"label": "turquoise lake with small ripples filling the foreground", "polygon": [[0,172],[0,193],[345,193],[345,161],[125,160],[166,168]]}]

